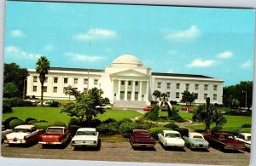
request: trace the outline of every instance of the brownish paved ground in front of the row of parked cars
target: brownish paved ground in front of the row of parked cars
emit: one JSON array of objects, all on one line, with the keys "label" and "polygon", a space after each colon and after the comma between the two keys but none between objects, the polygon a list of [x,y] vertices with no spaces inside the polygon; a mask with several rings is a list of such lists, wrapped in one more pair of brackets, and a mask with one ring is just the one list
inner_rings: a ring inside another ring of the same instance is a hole
[{"label": "brownish paved ground in front of the row of parked cars", "polygon": [[49,158],[49,159],[78,159],[94,161],[119,162],[149,162],[149,163],[196,163],[219,165],[248,165],[249,152],[219,152],[210,148],[207,152],[183,151],[165,149],[156,144],[154,149],[133,150],[129,142],[102,141],[100,151],[94,149],[74,151],[72,146],[64,149],[43,149],[39,145],[31,147],[9,147],[2,145],[3,157]]}]

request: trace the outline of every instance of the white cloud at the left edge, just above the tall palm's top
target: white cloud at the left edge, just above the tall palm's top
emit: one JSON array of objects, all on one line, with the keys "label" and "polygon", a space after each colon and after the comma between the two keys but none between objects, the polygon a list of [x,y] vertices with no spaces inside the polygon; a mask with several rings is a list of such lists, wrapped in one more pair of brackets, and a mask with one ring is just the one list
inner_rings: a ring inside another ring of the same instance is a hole
[{"label": "white cloud at the left edge, just above the tall palm's top", "polygon": [[4,52],[6,56],[12,56],[13,58],[19,60],[37,60],[40,57],[40,54],[28,53],[15,46],[6,47]]}]

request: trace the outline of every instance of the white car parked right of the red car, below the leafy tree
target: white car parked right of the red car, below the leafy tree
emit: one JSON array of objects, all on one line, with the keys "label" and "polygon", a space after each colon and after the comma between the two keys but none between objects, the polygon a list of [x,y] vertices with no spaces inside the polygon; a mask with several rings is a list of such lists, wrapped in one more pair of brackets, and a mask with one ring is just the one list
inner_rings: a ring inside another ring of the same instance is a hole
[{"label": "white car parked right of the red car, below the leafy tree", "polygon": [[95,128],[80,128],[71,140],[71,146],[94,146],[100,148],[99,132]]}]

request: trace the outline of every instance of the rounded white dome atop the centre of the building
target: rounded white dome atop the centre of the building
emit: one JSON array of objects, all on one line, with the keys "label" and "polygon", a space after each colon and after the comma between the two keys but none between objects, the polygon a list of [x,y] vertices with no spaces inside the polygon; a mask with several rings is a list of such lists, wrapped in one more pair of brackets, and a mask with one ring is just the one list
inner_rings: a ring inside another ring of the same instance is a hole
[{"label": "rounded white dome atop the centre of the building", "polygon": [[143,66],[141,60],[138,60],[137,57],[132,54],[123,54],[113,60],[113,66]]}]

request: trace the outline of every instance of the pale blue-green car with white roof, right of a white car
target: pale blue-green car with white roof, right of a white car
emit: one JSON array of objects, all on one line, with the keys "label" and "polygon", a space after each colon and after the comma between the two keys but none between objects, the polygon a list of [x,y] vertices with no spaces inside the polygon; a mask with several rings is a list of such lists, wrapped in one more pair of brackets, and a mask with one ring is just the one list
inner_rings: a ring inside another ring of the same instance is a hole
[{"label": "pale blue-green car with white roof, right of a white car", "polygon": [[189,133],[189,136],[183,136],[185,145],[189,146],[190,149],[208,149],[209,143],[204,139],[201,133]]}]

